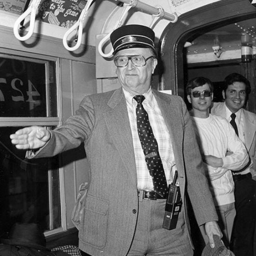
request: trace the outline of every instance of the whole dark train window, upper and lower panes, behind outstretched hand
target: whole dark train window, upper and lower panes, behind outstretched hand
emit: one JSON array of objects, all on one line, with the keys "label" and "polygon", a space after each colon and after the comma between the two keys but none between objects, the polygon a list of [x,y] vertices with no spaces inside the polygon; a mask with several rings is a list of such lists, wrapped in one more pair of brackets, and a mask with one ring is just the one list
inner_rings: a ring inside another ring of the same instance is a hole
[{"label": "whole dark train window, upper and lower panes, behind outstretched hand", "polygon": [[9,135],[19,128],[59,125],[56,60],[0,54],[0,238],[15,222],[61,227],[59,157],[27,160]]}]

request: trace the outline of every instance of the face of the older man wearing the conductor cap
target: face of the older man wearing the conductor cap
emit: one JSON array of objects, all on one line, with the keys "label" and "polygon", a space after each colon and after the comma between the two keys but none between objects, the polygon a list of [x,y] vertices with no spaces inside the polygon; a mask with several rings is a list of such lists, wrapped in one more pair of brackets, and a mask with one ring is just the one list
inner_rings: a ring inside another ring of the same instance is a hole
[{"label": "face of the older man wearing the conductor cap", "polygon": [[[152,56],[152,52],[148,48],[129,48],[120,50],[115,54],[123,55],[142,55],[145,59]],[[151,84],[151,76],[154,73],[157,60],[149,58],[146,65],[136,67],[131,60],[128,61],[126,67],[117,67],[116,74],[121,82],[121,86],[132,94],[143,94],[148,91]]]}]

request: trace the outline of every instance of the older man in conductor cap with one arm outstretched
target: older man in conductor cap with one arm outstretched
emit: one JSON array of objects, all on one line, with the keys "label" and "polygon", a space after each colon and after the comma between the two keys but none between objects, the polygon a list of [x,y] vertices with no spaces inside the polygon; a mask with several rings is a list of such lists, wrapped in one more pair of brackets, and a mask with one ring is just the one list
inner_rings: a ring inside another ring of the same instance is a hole
[{"label": "older man in conductor cap with one arm outstretched", "polygon": [[[79,247],[87,254],[192,256],[185,194],[214,247],[213,235],[222,234],[189,113],[180,97],[151,88],[155,34],[145,26],[127,25],[110,39],[121,88],[86,96],[76,114],[54,130],[18,130],[10,136],[12,143],[32,149],[27,157],[33,158],[84,142],[90,182]],[[168,216],[172,182],[182,203],[175,216]],[[166,218],[174,221],[170,230],[163,228]]]}]

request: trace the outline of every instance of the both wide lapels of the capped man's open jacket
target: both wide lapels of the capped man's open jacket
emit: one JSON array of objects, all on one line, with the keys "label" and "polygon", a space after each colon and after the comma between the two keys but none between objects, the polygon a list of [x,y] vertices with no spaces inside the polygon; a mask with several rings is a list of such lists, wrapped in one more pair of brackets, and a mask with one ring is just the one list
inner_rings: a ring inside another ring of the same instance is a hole
[{"label": "both wide lapels of the capped man's open jacket", "polygon": [[[175,106],[168,95],[159,93],[153,90],[155,99],[161,109],[164,121],[171,136],[172,147],[175,154],[175,162],[177,168],[182,171],[184,169],[182,162],[182,137],[183,126],[181,120],[181,113],[177,106]],[[137,184],[135,155],[133,148],[133,139],[128,118],[128,110],[126,100],[122,89],[114,91],[110,100],[108,101],[108,109],[105,112],[105,121],[109,134],[112,136],[115,147],[119,152],[124,166],[135,184]],[[180,173],[180,175],[184,175]]]}]

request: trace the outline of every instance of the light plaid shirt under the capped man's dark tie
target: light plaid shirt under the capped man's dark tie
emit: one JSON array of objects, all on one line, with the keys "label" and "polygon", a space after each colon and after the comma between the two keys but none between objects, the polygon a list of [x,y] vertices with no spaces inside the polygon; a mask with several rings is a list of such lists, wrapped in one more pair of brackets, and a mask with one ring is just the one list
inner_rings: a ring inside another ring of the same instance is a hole
[{"label": "light plaid shirt under the capped man's dark tie", "polygon": [[[137,131],[137,102],[133,99],[135,95],[130,94],[125,89],[123,89],[123,92],[126,98],[128,116],[133,136],[133,146],[137,171],[137,188],[142,190],[154,190],[152,177],[149,175],[147,163],[145,161],[145,155],[141,148],[141,141]],[[149,88],[148,92],[143,95],[145,96],[145,100],[142,102],[142,104],[145,110],[148,112],[150,125],[158,143],[158,150],[162,159],[166,180],[167,183],[170,184],[176,170],[171,138],[163,119],[161,110],[157,104],[157,101],[155,100],[155,96],[152,94],[151,88]]]}]

